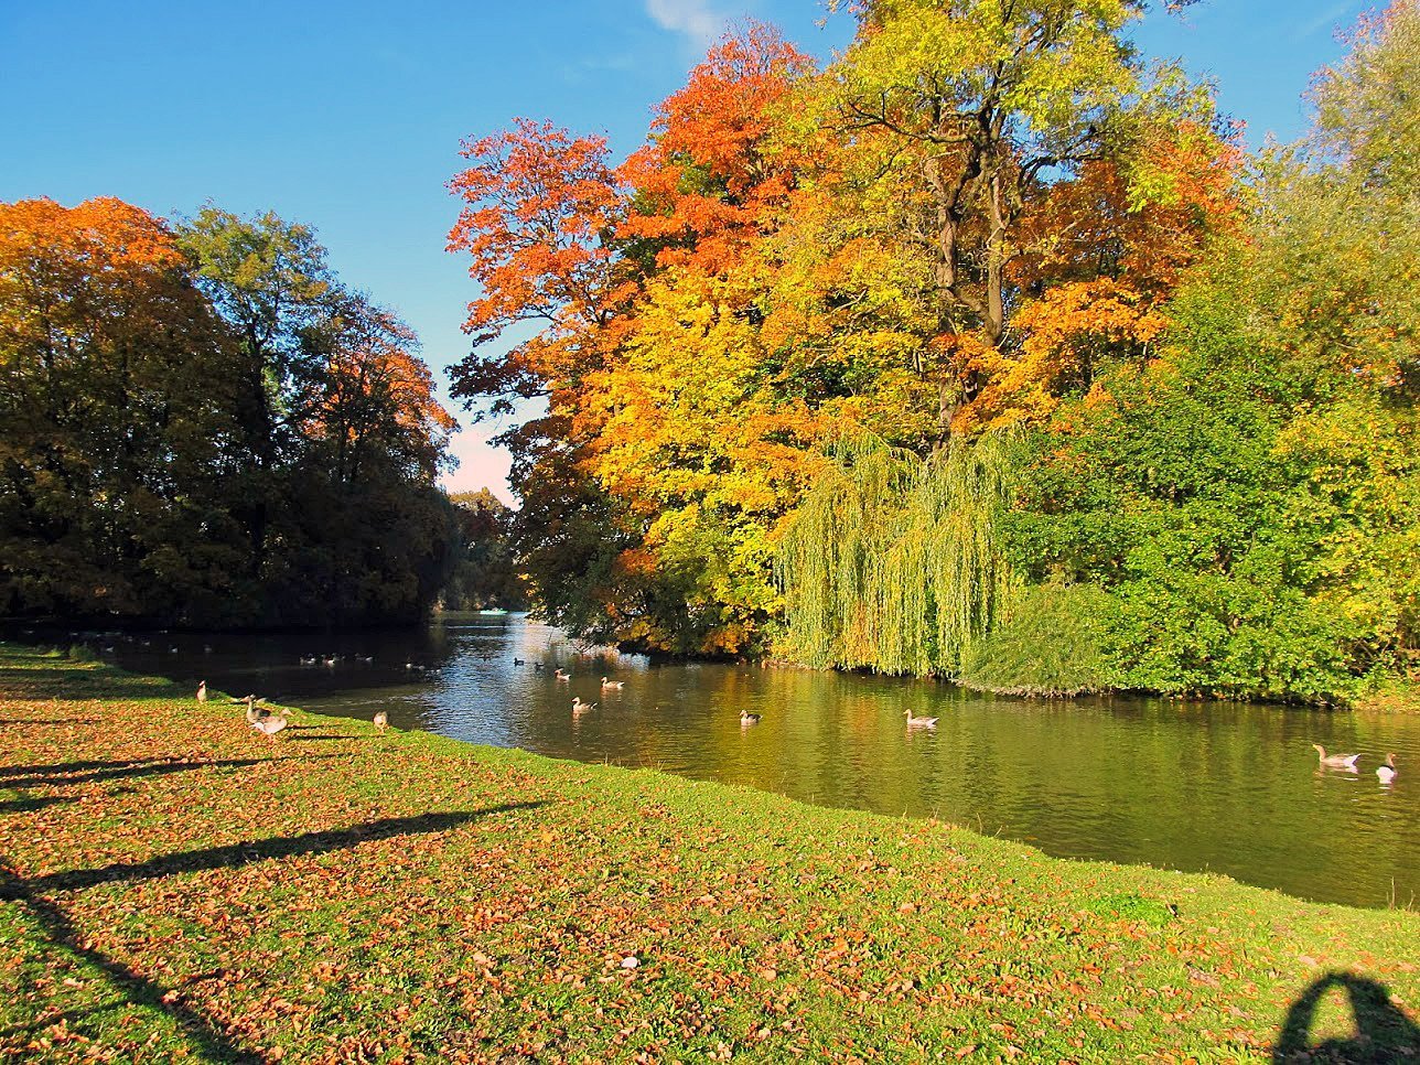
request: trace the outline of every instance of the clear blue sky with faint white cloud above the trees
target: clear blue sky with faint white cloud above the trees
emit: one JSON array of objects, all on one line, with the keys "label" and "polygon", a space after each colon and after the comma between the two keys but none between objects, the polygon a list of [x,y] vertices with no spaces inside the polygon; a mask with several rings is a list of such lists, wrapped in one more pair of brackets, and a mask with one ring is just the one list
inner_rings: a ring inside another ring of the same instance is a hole
[{"label": "clear blue sky with faint white cloud above the trees", "polygon": [[[1213,78],[1258,145],[1302,132],[1309,74],[1369,6],[1203,0],[1150,16],[1136,38]],[[341,277],[398,310],[442,376],[466,351],[473,295],[443,250],[460,139],[552,118],[625,155],[746,16],[819,57],[852,33],[843,14],[819,26],[816,0],[0,0],[0,200],[274,209],[314,226]],[[507,496],[488,433],[456,439],[450,487]]]}]

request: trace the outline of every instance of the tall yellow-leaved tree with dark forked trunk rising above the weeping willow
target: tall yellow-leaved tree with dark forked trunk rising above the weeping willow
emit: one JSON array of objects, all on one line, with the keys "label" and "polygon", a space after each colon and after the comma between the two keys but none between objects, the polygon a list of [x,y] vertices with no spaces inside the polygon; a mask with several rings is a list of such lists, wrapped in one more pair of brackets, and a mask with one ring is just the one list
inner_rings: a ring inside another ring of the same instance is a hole
[{"label": "tall yellow-leaved tree with dark forked trunk rising above the weeping willow", "polygon": [[[1038,264],[1064,244],[1076,263],[1092,256],[1100,264],[1093,274],[1108,277],[1108,244],[1119,237],[1106,231],[1103,246],[1088,250],[1082,240],[1099,231],[1096,207],[1118,217],[1150,202],[1180,206],[1187,190],[1177,179],[1200,152],[1225,149],[1211,132],[1207,95],[1174,70],[1147,71],[1129,43],[1126,28],[1143,9],[1143,0],[865,3],[858,40],[826,71],[816,104],[841,131],[843,153],[841,192],[818,210],[828,236],[821,243],[910,260],[866,278],[838,264],[839,293],[824,300],[829,308],[868,302],[888,320],[892,342],[936,390],[939,442],[953,425],[993,420],[994,412],[961,412],[1020,361],[1028,332],[1020,327],[1031,322],[1014,315],[1049,284],[1022,258]],[[1196,142],[1172,168],[1170,129]],[[1065,222],[1069,196],[1059,190],[1079,182],[1093,186],[1074,197],[1088,207]],[[856,224],[842,222],[845,207]],[[1042,226],[1042,212],[1055,222]],[[1196,241],[1203,223],[1190,219]],[[875,281],[889,291],[875,293]],[[1135,295],[1076,287],[1059,310],[1068,315],[1098,298],[1123,322],[1130,311],[1120,308]],[[1154,322],[1133,317],[1147,337]]]}]

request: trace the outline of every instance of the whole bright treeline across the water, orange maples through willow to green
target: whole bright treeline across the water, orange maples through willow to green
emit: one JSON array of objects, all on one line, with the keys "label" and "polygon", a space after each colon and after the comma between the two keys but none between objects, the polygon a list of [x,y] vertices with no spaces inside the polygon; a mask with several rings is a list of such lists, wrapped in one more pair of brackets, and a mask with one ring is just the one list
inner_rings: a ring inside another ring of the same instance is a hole
[{"label": "whole bright treeline across the water, orange maples through willow to green", "polygon": [[619,165],[552,124],[466,145],[454,392],[545,403],[504,440],[552,618],[1001,690],[1400,674],[1413,0],[1262,156],[1130,43],[1146,0],[852,7],[822,70],[716,45]]}]

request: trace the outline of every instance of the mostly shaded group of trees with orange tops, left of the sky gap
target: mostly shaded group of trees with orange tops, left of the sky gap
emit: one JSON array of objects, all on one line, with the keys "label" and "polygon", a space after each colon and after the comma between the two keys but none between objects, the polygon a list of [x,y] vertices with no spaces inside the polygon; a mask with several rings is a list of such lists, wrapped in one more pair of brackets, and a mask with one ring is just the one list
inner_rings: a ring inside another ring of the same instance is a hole
[{"label": "mostly shaded group of trees with orange tops, left of the sky gap", "polygon": [[457,514],[416,351],[274,214],[0,204],[0,615],[417,621]]}]

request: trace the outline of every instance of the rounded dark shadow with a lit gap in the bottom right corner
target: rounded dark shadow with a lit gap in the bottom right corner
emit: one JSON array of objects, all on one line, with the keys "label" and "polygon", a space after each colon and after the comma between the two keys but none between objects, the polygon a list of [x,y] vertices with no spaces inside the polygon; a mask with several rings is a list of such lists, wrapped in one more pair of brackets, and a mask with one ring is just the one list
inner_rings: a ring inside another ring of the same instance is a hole
[{"label": "rounded dark shadow with a lit gap in the bottom right corner", "polygon": [[[1356,1032],[1348,1038],[1311,1042],[1316,1007],[1332,988],[1350,1000]],[[1340,1061],[1387,1062],[1420,1055],[1420,1028],[1390,1001],[1386,985],[1355,973],[1328,973],[1292,1003],[1272,1048],[1274,1065],[1282,1062]]]}]

